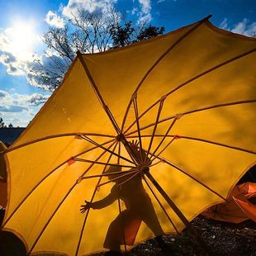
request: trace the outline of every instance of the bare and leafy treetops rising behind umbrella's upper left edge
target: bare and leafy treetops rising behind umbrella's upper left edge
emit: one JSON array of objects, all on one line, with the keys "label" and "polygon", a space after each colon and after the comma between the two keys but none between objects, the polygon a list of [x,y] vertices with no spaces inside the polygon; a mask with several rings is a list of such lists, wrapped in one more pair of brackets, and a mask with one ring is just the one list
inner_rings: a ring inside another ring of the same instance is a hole
[{"label": "bare and leafy treetops rising behind umbrella's upper left edge", "polygon": [[47,46],[45,57],[35,59],[28,77],[37,87],[54,91],[78,50],[102,52],[163,33],[164,27],[123,21],[114,9],[92,13],[78,10],[64,28],[50,27],[42,37]]}]

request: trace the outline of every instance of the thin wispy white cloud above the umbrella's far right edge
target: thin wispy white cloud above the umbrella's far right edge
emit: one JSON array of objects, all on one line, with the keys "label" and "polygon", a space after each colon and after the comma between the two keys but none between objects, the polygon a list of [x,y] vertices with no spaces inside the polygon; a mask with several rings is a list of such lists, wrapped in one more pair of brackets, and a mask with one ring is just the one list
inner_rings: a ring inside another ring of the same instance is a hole
[{"label": "thin wispy white cloud above the umbrella's far right edge", "polygon": [[243,21],[235,24],[235,26],[230,27],[228,26],[228,20],[225,18],[224,21],[220,23],[220,28],[244,36],[254,36],[254,34],[256,34],[256,22],[249,24],[248,19],[244,19]]}]

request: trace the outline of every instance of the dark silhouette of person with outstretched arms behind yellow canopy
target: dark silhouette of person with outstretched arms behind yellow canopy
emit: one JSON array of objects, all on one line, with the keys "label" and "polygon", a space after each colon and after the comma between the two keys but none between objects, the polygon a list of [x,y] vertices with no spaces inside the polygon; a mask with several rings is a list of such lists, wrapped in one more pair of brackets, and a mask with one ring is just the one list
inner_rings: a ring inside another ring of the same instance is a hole
[{"label": "dark silhouette of person with outstretched arms behind yellow canopy", "polygon": [[[130,143],[130,148],[137,157],[140,155],[140,159],[147,158],[145,151],[140,152],[135,143]],[[149,164],[149,159],[146,159],[144,163]],[[121,254],[121,244],[134,244],[141,221],[153,231],[161,249],[164,248],[164,240],[161,236],[164,234],[164,230],[159,224],[152,201],[143,187],[142,174],[138,168],[131,168],[130,171],[138,171],[138,173],[135,175],[132,172],[124,176],[121,173],[121,166],[111,165],[105,172],[105,174],[110,174],[109,180],[115,183],[110,194],[99,201],[85,201],[85,205],[82,205],[80,209],[81,213],[84,213],[89,208],[102,209],[107,207],[118,199],[124,201],[126,210],[121,211],[111,222],[103,244],[105,249],[109,249],[111,255]]]}]

